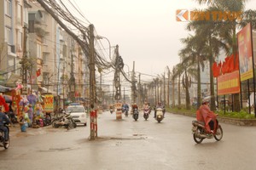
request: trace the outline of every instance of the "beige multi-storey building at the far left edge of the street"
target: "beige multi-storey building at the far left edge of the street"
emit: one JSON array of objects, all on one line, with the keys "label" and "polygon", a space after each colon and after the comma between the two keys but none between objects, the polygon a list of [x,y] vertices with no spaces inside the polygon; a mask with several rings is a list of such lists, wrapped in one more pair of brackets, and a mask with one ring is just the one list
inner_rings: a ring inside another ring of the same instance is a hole
[{"label": "beige multi-storey building at the far left edge of the street", "polygon": [[28,8],[31,6],[26,0],[0,1],[0,83],[10,87],[20,79],[20,61],[26,51],[23,40]]}]

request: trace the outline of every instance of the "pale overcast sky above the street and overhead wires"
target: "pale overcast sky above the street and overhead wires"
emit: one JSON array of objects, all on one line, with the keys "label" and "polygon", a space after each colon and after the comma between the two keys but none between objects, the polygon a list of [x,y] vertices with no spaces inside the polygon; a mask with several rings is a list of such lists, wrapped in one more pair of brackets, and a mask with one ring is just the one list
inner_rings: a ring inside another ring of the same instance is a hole
[{"label": "pale overcast sky above the street and overhead wires", "polygon": [[[162,74],[168,65],[179,62],[183,48],[181,38],[187,37],[187,22],[176,20],[177,9],[199,8],[192,0],[73,0],[84,17],[107,37],[111,46],[119,45],[119,54],[126,65],[148,75]],[[248,6],[256,8],[256,1]],[[108,48],[108,41],[102,39]],[[125,66],[128,71],[128,67]]]}]

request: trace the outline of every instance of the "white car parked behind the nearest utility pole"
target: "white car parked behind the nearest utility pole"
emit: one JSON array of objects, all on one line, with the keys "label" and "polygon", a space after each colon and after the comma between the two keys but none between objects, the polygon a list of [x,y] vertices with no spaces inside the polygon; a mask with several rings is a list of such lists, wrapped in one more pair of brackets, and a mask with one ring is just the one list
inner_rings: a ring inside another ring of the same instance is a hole
[{"label": "white car parked behind the nearest utility pole", "polygon": [[66,112],[70,113],[74,122],[77,124],[87,125],[86,111],[83,105],[69,105],[67,106]]}]

